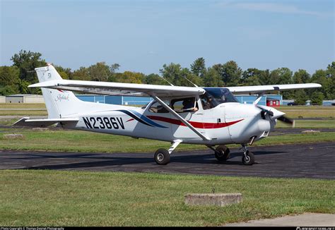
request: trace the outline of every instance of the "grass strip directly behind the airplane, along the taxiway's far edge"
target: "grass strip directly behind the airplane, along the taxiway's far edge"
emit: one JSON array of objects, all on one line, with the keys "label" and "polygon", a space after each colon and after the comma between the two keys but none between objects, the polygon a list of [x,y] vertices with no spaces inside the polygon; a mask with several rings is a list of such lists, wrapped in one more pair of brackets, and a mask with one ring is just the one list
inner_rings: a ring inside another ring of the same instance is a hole
[{"label": "grass strip directly behind the airplane, along the taxiway's far edge", "polygon": [[[0,129],[0,149],[46,150],[66,152],[154,152],[170,143],[158,140],[134,139],[119,135],[90,133],[85,131]],[[4,134],[20,133],[23,140],[7,140]],[[282,145],[290,143],[319,143],[335,140],[335,132],[274,135],[254,145]],[[233,147],[234,145],[230,145]],[[204,145],[180,145],[177,150],[207,149]]]}]

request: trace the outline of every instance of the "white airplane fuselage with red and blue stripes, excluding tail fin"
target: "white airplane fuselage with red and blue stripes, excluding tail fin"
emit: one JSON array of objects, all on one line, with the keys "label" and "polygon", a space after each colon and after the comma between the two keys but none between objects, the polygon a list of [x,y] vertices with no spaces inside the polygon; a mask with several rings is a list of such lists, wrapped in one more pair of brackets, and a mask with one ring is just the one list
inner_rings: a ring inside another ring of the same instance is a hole
[{"label": "white airplane fuselage with red and blue stripes, excluding tail fin", "polygon": [[[64,128],[127,135],[133,138],[148,138],[199,145],[225,145],[248,143],[250,138],[266,137],[276,121],[261,118],[260,110],[252,104],[223,103],[215,108],[180,113],[185,120],[211,140],[203,140],[170,113],[155,113],[139,107],[111,107],[110,110],[76,114],[76,126]],[[112,109],[113,108],[113,109]],[[272,109],[272,108],[271,108]]]}]

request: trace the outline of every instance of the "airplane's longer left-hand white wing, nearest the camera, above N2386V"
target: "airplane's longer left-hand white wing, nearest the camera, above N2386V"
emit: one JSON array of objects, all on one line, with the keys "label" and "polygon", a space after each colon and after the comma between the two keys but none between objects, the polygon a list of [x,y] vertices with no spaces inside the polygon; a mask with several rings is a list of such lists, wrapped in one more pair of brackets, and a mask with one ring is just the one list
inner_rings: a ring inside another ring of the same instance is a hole
[{"label": "airplane's longer left-hand white wing, nearest the camera, above N2386V", "polygon": [[98,95],[123,95],[138,97],[192,97],[203,95],[201,87],[183,87],[171,85],[146,85],[130,83],[108,83],[88,80],[49,80],[29,85],[29,87],[46,87],[57,90],[88,92]]}]

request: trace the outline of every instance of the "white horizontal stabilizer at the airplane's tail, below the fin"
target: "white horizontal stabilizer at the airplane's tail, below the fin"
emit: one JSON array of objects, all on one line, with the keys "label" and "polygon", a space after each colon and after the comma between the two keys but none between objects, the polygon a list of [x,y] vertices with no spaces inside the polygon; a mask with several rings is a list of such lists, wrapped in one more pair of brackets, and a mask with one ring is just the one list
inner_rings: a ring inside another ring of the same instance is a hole
[{"label": "white horizontal stabilizer at the airplane's tail, below the fin", "polygon": [[13,123],[13,126],[30,126],[30,127],[47,127],[52,126],[55,123],[68,124],[77,123],[79,119],[29,119],[29,117],[23,117],[22,119]]}]

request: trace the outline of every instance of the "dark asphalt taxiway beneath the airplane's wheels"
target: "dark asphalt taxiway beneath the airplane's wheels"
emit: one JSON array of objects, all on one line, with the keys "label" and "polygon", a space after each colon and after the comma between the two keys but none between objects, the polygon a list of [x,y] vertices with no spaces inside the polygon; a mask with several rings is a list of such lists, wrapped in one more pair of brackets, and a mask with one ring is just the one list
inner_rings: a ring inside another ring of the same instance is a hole
[{"label": "dark asphalt taxiway beneath the airplane's wheels", "polygon": [[221,176],[335,179],[335,142],[250,147],[255,164],[245,166],[232,149],[227,162],[211,150],[176,151],[167,165],[155,164],[153,153],[28,152],[0,150],[0,169],[136,171]]}]

